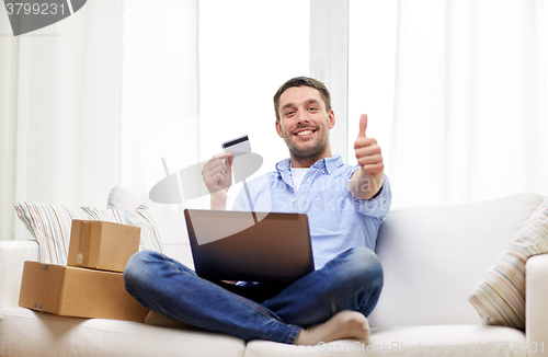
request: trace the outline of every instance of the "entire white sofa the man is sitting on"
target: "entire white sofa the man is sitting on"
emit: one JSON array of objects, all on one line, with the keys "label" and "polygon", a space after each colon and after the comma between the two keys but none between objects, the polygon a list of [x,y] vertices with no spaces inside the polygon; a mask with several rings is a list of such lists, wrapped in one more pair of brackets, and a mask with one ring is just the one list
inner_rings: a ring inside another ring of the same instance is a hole
[{"label": "entire white sofa the man is sitting on", "polygon": [[[145,199],[144,194],[115,187],[110,205],[127,209]],[[160,234],[169,237],[163,242],[168,255],[192,265],[184,240],[171,234],[181,234],[178,230],[184,228],[181,207],[150,205]],[[498,254],[532,214],[547,205],[543,196],[521,194],[390,211],[378,238],[385,287],[369,318],[370,336],[307,347],[266,341],[246,344],[216,333],[62,318],[19,308],[23,262],[37,260],[37,244],[0,241],[0,356],[525,356],[523,347],[532,343],[537,344],[537,353],[528,355],[548,356],[548,254],[533,256],[526,264],[525,332],[482,325],[468,302]],[[496,352],[502,342],[522,347]]]}]

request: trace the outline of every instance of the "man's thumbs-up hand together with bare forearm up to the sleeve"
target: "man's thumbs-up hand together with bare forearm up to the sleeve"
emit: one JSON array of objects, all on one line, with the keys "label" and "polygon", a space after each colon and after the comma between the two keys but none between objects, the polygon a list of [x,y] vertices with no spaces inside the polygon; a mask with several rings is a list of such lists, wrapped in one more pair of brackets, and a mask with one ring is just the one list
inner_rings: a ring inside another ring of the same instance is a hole
[{"label": "man's thumbs-up hand together with bare forearm up to the sleeve", "polygon": [[383,154],[377,140],[365,135],[367,115],[359,117],[359,133],[354,142],[354,152],[361,169],[350,180],[350,192],[358,199],[368,199],[375,196],[385,181]]}]

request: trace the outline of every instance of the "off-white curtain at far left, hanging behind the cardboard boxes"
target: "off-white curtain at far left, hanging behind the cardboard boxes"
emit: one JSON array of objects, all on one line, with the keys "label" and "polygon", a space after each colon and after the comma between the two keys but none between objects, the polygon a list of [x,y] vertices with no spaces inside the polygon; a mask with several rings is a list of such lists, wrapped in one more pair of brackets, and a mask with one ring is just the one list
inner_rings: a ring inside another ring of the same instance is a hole
[{"label": "off-white curtain at far left, hanging behind the cardboard boxes", "polygon": [[[122,2],[13,37],[0,7],[0,237],[13,201],[104,207],[119,182]],[[15,234],[16,231],[16,234]]]}]

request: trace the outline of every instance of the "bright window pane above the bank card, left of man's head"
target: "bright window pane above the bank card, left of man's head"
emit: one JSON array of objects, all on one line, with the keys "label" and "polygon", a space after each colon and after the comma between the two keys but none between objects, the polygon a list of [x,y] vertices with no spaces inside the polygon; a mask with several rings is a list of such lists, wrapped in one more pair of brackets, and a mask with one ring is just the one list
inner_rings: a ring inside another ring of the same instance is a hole
[{"label": "bright window pane above the bank card, left of man's head", "polygon": [[[285,80],[308,76],[309,26],[309,1],[201,1],[201,160],[241,135],[264,159],[254,176],[288,157],[272,96]],[[229,205],[238,192],[229,191]]]}]

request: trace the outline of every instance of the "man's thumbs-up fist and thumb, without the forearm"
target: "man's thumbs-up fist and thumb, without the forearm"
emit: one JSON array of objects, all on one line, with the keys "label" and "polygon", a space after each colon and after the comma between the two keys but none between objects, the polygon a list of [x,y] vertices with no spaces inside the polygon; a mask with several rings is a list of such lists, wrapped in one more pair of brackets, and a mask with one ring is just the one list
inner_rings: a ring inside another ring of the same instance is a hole
[{"label": "man's thumbs-up fist and thumb, without the forearm", "polygon": [[374,178],[383,173],[385,165],[377,140],[368,138],[365,135],[366,129],[367,115],[362,114],[362,117],[359,117],[359,133],[354,142],[354,151],[356,153],[357,163],[362,166],[366,176]]}]

